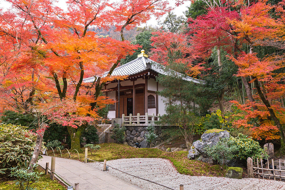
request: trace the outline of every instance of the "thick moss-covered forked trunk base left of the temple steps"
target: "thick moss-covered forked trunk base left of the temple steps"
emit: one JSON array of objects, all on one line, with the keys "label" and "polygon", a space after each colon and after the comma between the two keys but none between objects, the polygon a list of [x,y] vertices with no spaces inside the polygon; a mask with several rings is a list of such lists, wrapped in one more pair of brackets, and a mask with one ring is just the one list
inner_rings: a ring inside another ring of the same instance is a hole
[{"label": "thick moss-covered forked trunk base left of the temple steps", "polygon": [[77,129],[75,129],[74,127],[67,126],[67,131],[70,135],[72,150],[75,149],[78,152],[82,152],[80,148],[80,138],[84,129],[84,125],[79,126]]}]

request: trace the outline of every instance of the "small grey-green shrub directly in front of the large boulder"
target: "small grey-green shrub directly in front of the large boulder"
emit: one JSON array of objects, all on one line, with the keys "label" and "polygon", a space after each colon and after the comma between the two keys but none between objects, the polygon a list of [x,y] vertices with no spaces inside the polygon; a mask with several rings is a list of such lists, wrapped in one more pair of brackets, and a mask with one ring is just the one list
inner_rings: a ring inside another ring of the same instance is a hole
[{"label": "small grey-green shrub directly in front of the large boulder", "polygon": [[229,145],[228,139],[223,138],[216,145],[205,146],[205,151],[212,159],[217,160],[221,170],[224,170],[226,160],[232,159],[236,147]]}]

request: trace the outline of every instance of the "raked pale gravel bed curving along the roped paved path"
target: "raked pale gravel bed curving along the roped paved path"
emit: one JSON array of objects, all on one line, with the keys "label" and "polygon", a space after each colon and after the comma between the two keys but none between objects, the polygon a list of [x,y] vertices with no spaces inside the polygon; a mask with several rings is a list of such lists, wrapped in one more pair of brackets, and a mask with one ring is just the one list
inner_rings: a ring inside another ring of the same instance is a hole
[{"label": "raked pale gravel bed curving along the roped paved path", "polygon": [[[102,164],[88,164],[100,170],[103,169]],[[160,158],[118,159],[107,161],[107,165],[129,174],[161,183],[173,189],[179,189],[179,184],[184,184],[184,190],[285,190],[285,182],[280,181],[255,178],[229,179],[223,177],[183,175],[177,172],[169,160]],[[169,190],[112,168],[109,168],[107,172],[146,190]]]}]

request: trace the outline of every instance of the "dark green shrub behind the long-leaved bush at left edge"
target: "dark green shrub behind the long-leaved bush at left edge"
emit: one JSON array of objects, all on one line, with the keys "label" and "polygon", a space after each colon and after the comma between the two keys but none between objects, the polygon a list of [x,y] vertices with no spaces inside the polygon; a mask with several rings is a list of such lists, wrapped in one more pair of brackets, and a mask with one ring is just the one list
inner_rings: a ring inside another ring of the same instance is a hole
[{"label": "dark green shrub behind the long-leaved bush at left edge", "polygon": [[37,128],[37,118],[32,114],[21,114],[18,112],[14,112],[11,110],[7,110],[3,112],[1,115],[1,121],[6,124],[14,124],[21,126],[28,126],[29,129]]}]

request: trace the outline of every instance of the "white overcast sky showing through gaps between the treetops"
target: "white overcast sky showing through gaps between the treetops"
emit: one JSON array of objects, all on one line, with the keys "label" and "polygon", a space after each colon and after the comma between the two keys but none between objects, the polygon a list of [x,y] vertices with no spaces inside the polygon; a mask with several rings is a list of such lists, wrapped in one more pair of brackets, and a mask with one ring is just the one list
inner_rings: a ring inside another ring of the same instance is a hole
[{"label": "white overcast sky showing through gaps between the treetops", "polygon": [[[175,15],[177,16],[181,16],[184,15],[183,12],[186,11],[187,6],[189,6],[191,4],[191,1],[185,1],[184,4],[180,5],[179,7],[175,6],[175,0],[168,0],[169,4],[171,7],[174,8],[174,10],[172,12],[174,12]],[[58,0],[58,3],[56,3],[56,5],[64,10],[66,10],[66,0]],[[9,9],[10,4],[7,3],[7,1],[4,0],[0,0],[0,7],[5,9]],[[161,18],[161,20],[164,20],[165,16]],[[142,24],[141,26],[157,26],[157,21],[156,18],[151,18],[147,23]]]}]

